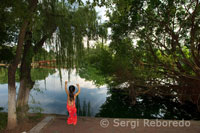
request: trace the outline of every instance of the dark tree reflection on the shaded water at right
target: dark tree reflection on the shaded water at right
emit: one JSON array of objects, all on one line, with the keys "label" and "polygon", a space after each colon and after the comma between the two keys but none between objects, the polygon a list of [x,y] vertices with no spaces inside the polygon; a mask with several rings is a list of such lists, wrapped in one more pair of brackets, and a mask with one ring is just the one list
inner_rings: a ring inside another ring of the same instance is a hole
[{"label": "dark tree reflection on the shaded water at right", "polygon": [[111,96],[100,107],[97,117],[146,118],[146,119],[200,119],[194,104],[181,104],[174,97],[142,95],[131,105],[123,90],[111,89]]}]

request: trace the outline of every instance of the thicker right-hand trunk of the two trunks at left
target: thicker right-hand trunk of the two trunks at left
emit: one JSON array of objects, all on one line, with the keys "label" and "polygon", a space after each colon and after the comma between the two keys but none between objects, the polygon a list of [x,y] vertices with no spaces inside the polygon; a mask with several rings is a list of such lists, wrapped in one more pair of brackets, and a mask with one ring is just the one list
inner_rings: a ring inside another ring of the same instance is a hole
[{"label": "thicker right-hand trunk of the two trunks at left", "polygon": [[30,90],[33,88],[34,82],[31,80],[31,62],[33,57],[32,48],[32,33],[26,33],[26,44],[24,46],[24,53],[20,69],[20,87],[17,97],[17,117],[19,122],[27,118],[28,99]]}]

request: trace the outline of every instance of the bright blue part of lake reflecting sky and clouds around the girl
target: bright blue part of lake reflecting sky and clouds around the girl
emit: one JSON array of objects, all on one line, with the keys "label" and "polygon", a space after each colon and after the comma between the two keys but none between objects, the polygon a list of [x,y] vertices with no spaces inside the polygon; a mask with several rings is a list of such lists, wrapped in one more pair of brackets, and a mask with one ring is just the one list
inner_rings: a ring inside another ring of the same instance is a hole
[{"label": "bright blue part of lake reflecting sky and clouds around the girl", "polygon": [[[5,68],[1,69],[1,71],[4,70]],[[55,69],[54,72],[46,74],[45,77],[44,75],[41,75],[41,72],[45,70],[48,71],[49,69],[42,68],[39,70],[39,72],[32,72],[34,76],[36,75],[33,77],[33,79],[36,79],[36,82],[34,88],[30,92],[29,112],[42,111],[42,113],[67,114],[67,94],[64,89],[64,82],[65,80],[68,80],[68,71],[66,69],[61,69],[60,75],[58,69]],[[3,75],[1,75],[1,78],[3,78],[2,76]],[[41,77],[44,79],[40,79]],[[5,76],[5,78],[7,77]],[[3,107],[4,111],[7,111],[8,84],[5,82],[6,81],[4,81],[4,83],[0,82],[0,107]],[[86,81],[77,75],[75,70],[72,70],[70,72],[68,86],[76,85],[77,83],[79,83],[81,87],[81,93],[79,94],[78,99],[76,99],[76,102],[78,102],[78,115],[95,116],[95,114],[99,112],[100,106],[106,101],[106,97],[108,96],[107,87],[105,85],[97,87],[93,82]],[[18,91],[18,82],[16,83],[16,86]]]}]

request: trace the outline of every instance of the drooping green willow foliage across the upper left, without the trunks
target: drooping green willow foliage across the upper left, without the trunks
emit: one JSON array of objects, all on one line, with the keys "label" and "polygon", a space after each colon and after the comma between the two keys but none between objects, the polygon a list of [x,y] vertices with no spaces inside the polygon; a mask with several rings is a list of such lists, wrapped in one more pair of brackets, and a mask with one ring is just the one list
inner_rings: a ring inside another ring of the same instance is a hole
[{"label": "drooping green willow foliage across the upper left, without the trunks", "polygon": [[[65,64],[70,69],[77,68],[82,59],[83,37],[97,39],[98,34],[101,34],[101,37],[104,35],[103,30],[101,33],[98,32],[100,29],[99,18],[95,9],[89,5],[83,5],[80,0],[71,2],[39,1],[33,12],[30,10],[32,6],[30,1],[19,0],[11,0],[0,6],[1,17],[6,16],[1,21],[2,29],[4,29],[1,30],[1,45],[9,42],[16,45],[20,26],[27,19],[29,21],[27,30],[31,32],[31,37],[26,38],[25,41],[29,39],[33,45],[29,56],[34,54],[33,49],[40,50],[41,46],[36,45],[44,40],[51,53],[56,53],[53,57],[57,59],[57,63]],[[6,19],[7,17],[9,19]],[[35,58],[39,59],[38,56]]]}]

